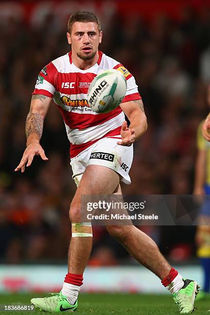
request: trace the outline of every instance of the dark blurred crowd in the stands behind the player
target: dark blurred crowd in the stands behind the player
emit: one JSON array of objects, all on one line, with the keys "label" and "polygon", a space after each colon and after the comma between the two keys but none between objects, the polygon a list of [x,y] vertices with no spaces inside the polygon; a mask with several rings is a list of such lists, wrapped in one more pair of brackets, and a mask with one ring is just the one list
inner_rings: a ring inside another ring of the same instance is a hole
[{"label": "dark blurred crowd in the stands behind the player", "polygon": [[[15,173],[25,149],[25,119],[38,73],[67,53],[66,30],[47,15],[39,27],[10,19],[0,34],[0,262],[65,262],[71,236],[69,204],[76,187],[69,166],[69,144],[62,117],[51,103],[41,144],[48,162],[35,156]],[[158,14],[117,13],[103,33],[100,50],[118,60],[138,84],[148,130],[134,145],[131,185],[126,195],[191,194],[196,132],[209,111],[210,7],[198,14],[184,8],[179,21]],[[142,229],[171,259],[195,255],[193,227]],[[133,263],[102,227],[94,228],[90,265]]]}]

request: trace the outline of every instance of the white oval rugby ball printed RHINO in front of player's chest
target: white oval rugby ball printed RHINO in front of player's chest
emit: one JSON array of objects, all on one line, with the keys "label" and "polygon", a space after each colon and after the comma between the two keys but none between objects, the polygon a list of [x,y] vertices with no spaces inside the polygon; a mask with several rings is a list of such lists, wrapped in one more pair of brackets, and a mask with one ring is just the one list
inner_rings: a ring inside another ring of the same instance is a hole
[{"label": "white oval rugby ball printed RHINO in front of player's chest", "polygon": [[98,74],[88,90],[88,103],[96,113],[109,113],[124,99],[127,82],[124,75],[116,69]]}]

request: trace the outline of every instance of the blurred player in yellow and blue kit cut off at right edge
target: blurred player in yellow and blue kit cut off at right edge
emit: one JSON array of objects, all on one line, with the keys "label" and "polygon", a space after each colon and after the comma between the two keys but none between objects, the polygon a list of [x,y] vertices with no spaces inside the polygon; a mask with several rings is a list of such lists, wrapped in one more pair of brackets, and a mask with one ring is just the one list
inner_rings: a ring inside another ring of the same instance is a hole
[{"label": "blurred player in yellow and blue kit cut off at right edge", "polygon": [[[210,104],[210,86],[207,91],[207,102]],[[198,296],[203,299],[209,296],[210,290],[210,142],[208,142],[208,121],[209,115],[205,121],[198,126],[197,132],[197,160],[195,170],[194,194],[203,196],[201,206],[200,225],[197,226],[196,243],[198,246],[197,255],[200,258],[203,269],[203,287]]]}]

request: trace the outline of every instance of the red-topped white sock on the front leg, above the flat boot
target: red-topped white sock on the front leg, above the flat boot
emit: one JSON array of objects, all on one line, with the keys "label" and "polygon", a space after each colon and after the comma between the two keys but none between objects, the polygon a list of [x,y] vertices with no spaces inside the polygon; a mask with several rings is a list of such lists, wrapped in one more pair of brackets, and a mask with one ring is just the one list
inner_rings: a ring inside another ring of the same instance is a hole
[{"label": "red-topped white sock on the front leg, above the flat boot", "polygon": [[61,293],[66,296],[71,305],[74,305],[77,300],[82,281],[82,274],[67,273],[65,276]]}]

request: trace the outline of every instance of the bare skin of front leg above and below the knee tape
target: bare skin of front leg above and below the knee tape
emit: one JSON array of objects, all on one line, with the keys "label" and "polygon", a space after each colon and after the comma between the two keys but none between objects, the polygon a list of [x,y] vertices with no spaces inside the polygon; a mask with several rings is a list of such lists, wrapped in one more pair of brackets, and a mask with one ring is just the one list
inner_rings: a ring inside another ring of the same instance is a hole
[{"label": "bare skin of front leg above and below the knee tape", "polygon": [[[80,181],[69,211],[72,223],[80,222],[81,197],[83,195],[111,195],[119,184],[118,174],[110,168],[89,165]],[[88,227],[89,228],[89,227]],[[92,233],[92,229],[86,229]],[[72,237],[69,246],[68,272],[81,274],[84,271],[92,249],[92,237]]]}]

